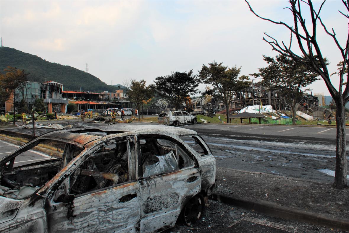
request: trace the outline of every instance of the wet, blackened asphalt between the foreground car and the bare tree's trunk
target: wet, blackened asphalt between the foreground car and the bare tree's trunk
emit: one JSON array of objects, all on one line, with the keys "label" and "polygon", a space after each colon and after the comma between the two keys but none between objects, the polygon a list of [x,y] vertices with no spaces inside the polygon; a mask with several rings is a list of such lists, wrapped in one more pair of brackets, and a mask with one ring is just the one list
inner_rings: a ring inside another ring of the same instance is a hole
[{"label": "wet, blackened asphalt between the foreground car and the bare tree's trunk", "polygon": [[336,128],[203,124],[184,127],[202,135],[217,166],[317,182],[334,181]]}]

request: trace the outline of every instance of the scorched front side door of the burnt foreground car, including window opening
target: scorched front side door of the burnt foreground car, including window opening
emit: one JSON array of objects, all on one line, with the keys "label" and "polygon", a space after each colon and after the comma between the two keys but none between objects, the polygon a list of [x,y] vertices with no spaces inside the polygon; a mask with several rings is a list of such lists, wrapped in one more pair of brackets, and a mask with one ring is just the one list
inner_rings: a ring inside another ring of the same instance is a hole
[{"label": "scorched front side door of the burnt foreground car, including window opening", "polygon": [[140,190],[134,148],[132,141],[111,140],[73,160],[69,175],[47,195],[49,232],[137,232]]}]

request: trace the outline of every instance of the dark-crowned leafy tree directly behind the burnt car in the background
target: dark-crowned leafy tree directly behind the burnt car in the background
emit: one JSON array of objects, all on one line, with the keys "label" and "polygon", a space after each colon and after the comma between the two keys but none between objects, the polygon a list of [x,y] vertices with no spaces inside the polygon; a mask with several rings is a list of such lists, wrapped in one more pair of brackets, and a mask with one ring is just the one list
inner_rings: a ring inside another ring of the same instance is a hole
[{"label": "dark-crowned leafy tree directly behind the burnt car in the background", "polygon": [[151,87],[163,99],[169,101],[176,109],[180,109],[181,104],[187,96],[194,95],[198,89],[200,80],[193,71],[172,72],[171,75],[157,77]]}]

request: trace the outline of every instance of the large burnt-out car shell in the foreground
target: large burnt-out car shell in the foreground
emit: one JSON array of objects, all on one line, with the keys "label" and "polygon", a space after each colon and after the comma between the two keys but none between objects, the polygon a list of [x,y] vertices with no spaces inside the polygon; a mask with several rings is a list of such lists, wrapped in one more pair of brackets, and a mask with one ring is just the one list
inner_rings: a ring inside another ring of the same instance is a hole
[{"label": "large burnt-out car shell in the foreground", "polygon": [[161,231],[196,222],[216,190],[200,135],[161,125],[46,133],[0,169],[0,232]]}]

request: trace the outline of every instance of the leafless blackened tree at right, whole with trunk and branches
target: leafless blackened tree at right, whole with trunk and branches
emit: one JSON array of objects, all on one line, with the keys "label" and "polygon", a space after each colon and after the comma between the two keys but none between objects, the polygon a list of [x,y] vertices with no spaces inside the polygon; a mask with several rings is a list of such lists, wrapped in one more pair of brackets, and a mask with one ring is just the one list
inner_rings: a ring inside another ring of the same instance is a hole
[{"label": "leafless blackened tree at right, whole with trunk and branches", "polygon": [[[273,50],[278,53],[291,57],[296,62],[302,63],[307,69],[317,73],[326,83],[329,93],[332,95],[333,100],[336,103],[336,124],[337,124],[337,149],[336,149],[336,168],[335,168],[335,181],[336,188],[344,188],[347,186],[347,157],[346,157],[346,134],[345,134],[345,104],[349,101],[349,73],[348,73],[348,50],[349,50],[349,33],[345,41],[345,45],[342,46],[337,40],[334,29],[328,30],[326,25],[321,20],[320,12],[324,6],[326,0],[324,0],[318,9],[314,9],[311,0],[289,0],[290,7],[285,9],[290,10],[294,25],[289,25],[281,21],[270,20],[269,18],[261,17],[252,9],[250,3],[247,0],[245,2],[252,13],[261,18],[262,20],[269,21],[274,24],[282,25],[290,31],[290,42],[288,45],[282,41],[279,43],[277,39],[269,36],[265,33],[266,37],[263,37]],[[341,15],[346,17],[349,21],[349,0],[342,0],[346,12],[339,11]],[[305,22],[303,8],[306,8],[311,24]],[[325,57],[321,53],[320,45],[317,41],[317,23],[320,23],[323,30],[329,37],[333,39],[333,42],[339,49],[342,55],[342,66],[339,70],[339,87],[336,89],[330,80],[330,73],[327,68]],[[297,53],[292,49],[292,39],[296,38],[297,45],[300,52]],[[347,82],[344,84],[344,74],[347,75]],[[344,90],[343,90],[344,88]]]}]

